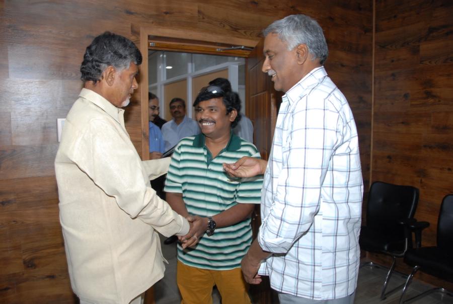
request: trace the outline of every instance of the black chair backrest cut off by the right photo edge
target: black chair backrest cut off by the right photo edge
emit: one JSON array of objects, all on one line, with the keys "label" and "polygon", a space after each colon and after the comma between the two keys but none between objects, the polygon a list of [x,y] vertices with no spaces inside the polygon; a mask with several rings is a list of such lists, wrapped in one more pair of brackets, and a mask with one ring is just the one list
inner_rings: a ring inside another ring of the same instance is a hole
[{"label": "black chair backrest cut off by the right photo edge", "polygon": [[453,194],[445,196],[440,205],[437,247],[453,253]]}]

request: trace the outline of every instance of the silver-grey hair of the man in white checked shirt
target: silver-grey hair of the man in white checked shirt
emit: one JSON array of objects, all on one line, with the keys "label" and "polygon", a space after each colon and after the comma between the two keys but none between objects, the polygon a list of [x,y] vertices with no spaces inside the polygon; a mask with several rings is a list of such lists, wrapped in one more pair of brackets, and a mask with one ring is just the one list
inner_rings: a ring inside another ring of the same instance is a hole
[{"label": "silver-grey hair of the man in white checked shirt", "polygon": [[274,33],[285,42],[288,50],[292,50],[299,44],[306,44],[313,59],[319,58],[324,64],[329,54],[323,29],[315,19],[306,15],[289,15],[283,19],[274,21],[264,31],[264,37]]}]

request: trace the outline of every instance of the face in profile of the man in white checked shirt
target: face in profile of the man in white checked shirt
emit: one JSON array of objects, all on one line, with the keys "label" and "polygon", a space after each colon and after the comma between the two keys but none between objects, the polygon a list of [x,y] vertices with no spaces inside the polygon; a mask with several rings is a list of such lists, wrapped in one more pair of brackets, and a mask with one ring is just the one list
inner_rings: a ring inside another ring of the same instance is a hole
[{"label": "face in profile of the man in white checked shirt", "polygon": [[267,73],[277,91],[287,92],[300,79],[297,47],[288,51],[286,43],[275,33],[270,33],[264,39],[264,55],[262,71]]}]

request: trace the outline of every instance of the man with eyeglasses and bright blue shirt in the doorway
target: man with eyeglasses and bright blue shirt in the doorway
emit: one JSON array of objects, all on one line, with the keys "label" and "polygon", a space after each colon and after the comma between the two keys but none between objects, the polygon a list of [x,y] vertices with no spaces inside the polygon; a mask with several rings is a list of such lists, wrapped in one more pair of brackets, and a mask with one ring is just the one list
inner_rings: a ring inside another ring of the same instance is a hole
[{"label": "man with eyeglasses and bright blue shirt in the doorway", "polygon": [[148,119],[149,119],[149,159],[158,160],[162,158],[165,151],[164,138],[161,129],[154,124],[159,117],[159,99],[156,95],[148,92]]}]

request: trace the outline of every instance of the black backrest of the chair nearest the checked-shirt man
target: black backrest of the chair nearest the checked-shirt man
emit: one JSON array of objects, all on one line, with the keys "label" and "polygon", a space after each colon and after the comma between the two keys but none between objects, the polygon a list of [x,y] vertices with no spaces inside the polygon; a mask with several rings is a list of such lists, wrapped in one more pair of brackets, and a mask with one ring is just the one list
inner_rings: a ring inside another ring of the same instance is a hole
[{"label": "black backrest of the chair nearest the checked-shirt man", "polygon": [[398,221],[414,217],[418,195],[418,189],[412,186],[372,183],[366,207],[366,225],[404,238],[404,227]]}]

